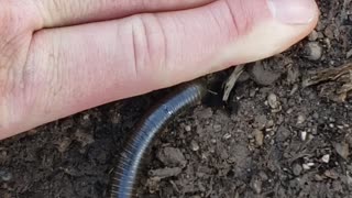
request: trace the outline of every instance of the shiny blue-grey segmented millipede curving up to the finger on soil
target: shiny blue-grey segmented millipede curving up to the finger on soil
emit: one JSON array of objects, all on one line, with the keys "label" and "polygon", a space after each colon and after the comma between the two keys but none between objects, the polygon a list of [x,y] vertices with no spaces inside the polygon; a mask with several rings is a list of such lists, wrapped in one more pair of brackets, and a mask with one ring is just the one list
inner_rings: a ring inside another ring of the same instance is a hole
[{"label": "shiny blue-grey segmented millipede curving up to the finger on soil", "polygon": [[158,102],[141,120],[128,141],[111,180],[109,197],[130,198],[136,182],[143,155],[146,153],[155,134],[183,110],[199,102],[207,94],[205,84],[191,81]]}]

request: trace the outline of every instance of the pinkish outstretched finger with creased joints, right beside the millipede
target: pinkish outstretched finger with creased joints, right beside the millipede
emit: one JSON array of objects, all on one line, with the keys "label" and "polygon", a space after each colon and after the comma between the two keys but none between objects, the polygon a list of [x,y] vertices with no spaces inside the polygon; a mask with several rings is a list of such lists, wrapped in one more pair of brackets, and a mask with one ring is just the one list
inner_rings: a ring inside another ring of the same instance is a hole
[{"label": "pinkish outstretched finger with creased joints, right beside the millipede", "polygon": [[317,23],[315,2],[300,7],[299,1],[306,0],[290,1],[284,15],[307,13],[298,20],[277,15],[266,0],[220,0],[193,10],[40,31],[22,86],[9,100],[8,133],[1,135],[279,53]]}]

